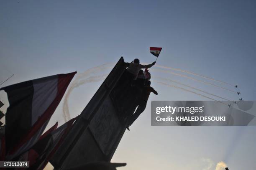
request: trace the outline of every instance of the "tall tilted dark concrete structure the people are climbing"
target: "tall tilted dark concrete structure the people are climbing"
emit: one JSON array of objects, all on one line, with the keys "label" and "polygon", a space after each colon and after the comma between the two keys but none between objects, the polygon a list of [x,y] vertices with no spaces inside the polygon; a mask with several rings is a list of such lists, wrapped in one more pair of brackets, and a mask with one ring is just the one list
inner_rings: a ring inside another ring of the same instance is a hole
[{"label": "tall tilted dark concrete structure the people are climbing", "polygon": [[[128,117],[117,107],[113,90],[120,84],[125,69],[121,57],[50,160],[55,169],[111,160],[125,132]],[[131,104],[127,107],[131,108]]]}]

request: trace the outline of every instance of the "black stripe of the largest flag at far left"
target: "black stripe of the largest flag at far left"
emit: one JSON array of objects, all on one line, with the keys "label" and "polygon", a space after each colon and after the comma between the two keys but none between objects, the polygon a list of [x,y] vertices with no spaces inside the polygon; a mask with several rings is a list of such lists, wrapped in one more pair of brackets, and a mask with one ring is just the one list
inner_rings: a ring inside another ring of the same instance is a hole
[{"label": "black stripe of the largest flag at far left", "polygon": [[33,83],[25,81],[4,87],[8,95],[10,106],[5,115],[6,122],[6,150],[20,140],[20,138],[31,128],[31,111],[33,99]]}]

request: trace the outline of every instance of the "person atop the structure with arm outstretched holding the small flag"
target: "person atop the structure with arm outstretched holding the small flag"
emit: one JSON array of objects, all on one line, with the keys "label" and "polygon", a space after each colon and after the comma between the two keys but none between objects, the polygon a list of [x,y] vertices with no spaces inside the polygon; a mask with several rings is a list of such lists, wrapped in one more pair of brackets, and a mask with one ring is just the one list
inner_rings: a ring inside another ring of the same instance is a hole
[{"label": "person atop the structure with arm outstretched holding the small flag", "polygon": [[154,66],[155,63],[156,61],[148,65],[142,65],[140,64],[140,60],[138,58],[135,58],[132,63],[125,63],[125,64],[128,66],[127,71],[133,76],[133,80],[136,80],[138,73],[141,69],[148,69]]}]

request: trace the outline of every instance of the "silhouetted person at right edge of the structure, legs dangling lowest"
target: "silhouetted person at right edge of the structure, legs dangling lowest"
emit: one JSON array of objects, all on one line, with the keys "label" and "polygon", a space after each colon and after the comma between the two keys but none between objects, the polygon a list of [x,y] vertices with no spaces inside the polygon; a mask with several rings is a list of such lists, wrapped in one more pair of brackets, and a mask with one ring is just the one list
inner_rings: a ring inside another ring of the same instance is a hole
[{"label": "silhouetted person at right edge of the structure, legs dangling lowest", "polygon": [[150,86],[151,81],[147,80],[145,83],[145,86],[143,87],[141,97],[138,99],[138,108],[136,109],[136,112],[129,118],[127,129],[129,129],[129,126],[133,124],[133,122],[139,117],[139,115],[146,109],[146,105],[148,102],[148,97],[151,92],[154,94],[158,94],[157,91],[153,89],[153,87]]}]

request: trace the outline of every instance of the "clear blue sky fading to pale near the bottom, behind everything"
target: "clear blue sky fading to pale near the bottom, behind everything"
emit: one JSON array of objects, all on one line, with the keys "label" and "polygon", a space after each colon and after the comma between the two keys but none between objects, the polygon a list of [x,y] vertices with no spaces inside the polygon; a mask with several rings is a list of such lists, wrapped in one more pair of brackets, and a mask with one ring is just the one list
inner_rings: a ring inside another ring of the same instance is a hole
[{"label": "clear blue sky fading to pale near the bottom, behind everything", "polygon": [[[238,84],[243,99],[256,100],[255,30],[253,0],[1,0],[0,81],[11,74],[15,75],[3,86],[54,74],[80,73],[115,63],[120,56],[127,62],[140,58],[151,63],[155,57],[148,48],[156,46],[163,47],[158,65]],[[151,94],[149,100],[207,100],[157,84],[156,76],[238,100],[235,93],[184,77],[153,69],[151,76],[151,85],[159,95]],[[101,83],[84,84],[72,91],[71,117],[80,114]],[[3,91],[0,99],[7,103]],[[56,121],[64,123],[62,103],[49,126]],[[131,131],[125,132],[112,161],[128,163],[120,170],[215,170],[221,160],[230,170],[255,170],[255,130],[151,127],[148,104]]]}]

